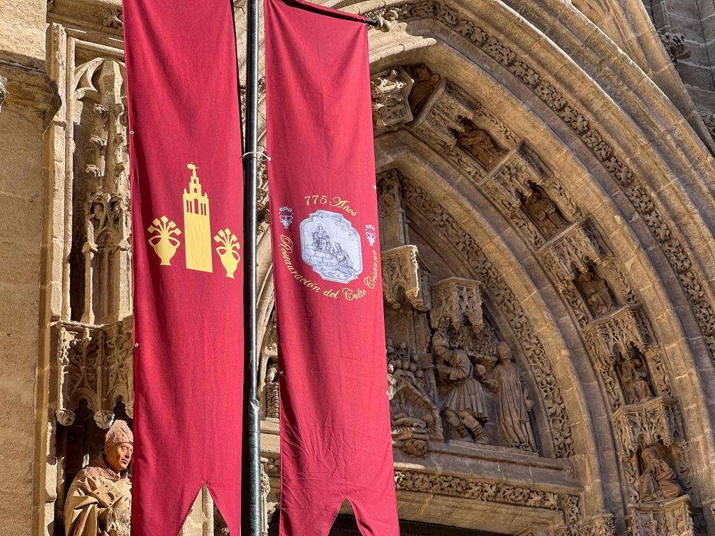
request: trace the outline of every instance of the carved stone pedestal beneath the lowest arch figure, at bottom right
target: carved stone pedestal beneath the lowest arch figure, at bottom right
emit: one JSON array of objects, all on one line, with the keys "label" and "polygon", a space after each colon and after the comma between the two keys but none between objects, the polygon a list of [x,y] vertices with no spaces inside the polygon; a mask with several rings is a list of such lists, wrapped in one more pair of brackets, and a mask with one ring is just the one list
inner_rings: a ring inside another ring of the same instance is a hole
[{"label": "carved stone pedestal beneath the lowest arch figure, at bottom right", "polygon": [[690,497],[628,505],[628,534],[633,536],[696,536]]}]

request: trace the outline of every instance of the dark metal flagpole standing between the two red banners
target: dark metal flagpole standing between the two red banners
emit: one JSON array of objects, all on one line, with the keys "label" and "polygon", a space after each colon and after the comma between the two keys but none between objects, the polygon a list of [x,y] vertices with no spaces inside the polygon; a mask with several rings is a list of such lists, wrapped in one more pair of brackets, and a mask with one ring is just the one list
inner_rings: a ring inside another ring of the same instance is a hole
[{"label": "dark metal flagpole standing between the two red banners", "polygon": [[258,0],[247,0],[246,59],[246,146],[244,155],[244,344],[245,362],[245,423],[247,455],[244,457],[246,497],[242,513],[242,535],[260,536],[261,500],[261,430],[258,407],[258,357],[256,334],[256,187],[258,164]]}]

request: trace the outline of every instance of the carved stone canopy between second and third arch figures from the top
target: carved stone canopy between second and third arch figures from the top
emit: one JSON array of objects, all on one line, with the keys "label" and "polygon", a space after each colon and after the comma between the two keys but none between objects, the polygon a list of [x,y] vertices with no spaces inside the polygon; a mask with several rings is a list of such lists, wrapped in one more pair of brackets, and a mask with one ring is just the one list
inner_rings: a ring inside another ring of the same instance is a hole
[{"label": "carved stone canopy between second and third arch figures from the top", "polygon": [[499,209],[513,214],[521,207],[523,199],[533,193],[531,184],[541,186],[546,182],[548,171],[542,165],[521,142],[489,174],[478,180],[478,186]]}]

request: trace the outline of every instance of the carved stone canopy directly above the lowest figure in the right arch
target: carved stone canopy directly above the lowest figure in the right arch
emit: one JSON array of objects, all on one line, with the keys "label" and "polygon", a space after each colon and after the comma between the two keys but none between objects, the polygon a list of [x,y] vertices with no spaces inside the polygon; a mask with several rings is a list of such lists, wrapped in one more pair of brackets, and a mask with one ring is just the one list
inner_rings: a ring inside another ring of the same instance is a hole
[{"label": "carved stone canopy directly above the lowest figure in the right arch", "polygon": [[621,406],[613,413],[621,457],[631,457],[639,448],[662,442],[666,447],[684,442],[683,417],[678,402],[656,397]]}]

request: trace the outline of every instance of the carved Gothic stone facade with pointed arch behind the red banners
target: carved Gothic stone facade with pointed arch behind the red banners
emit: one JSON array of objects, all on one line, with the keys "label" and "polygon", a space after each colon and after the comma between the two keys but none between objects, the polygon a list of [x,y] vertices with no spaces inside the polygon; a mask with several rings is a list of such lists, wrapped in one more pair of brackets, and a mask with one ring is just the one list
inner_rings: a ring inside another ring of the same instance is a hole
[{"label": "carved Gothic stone facade with pointed arch behind the red banners", "polygon": [[[104,430],[133,415],[122,12],[115,0],[6,4],[0,534],[61,536],[69,482]],[[392,20],[388,34],[369,32],[370,68],[386,381],[409,530],[715,534],[705,4],[330,4]],[[280,511],[280,348],[261,177],[268,525]],[[450,407],[444,367],[455,363],[473,386],[470,417]],[[224,533],[204,489],[182,534]]]}]

